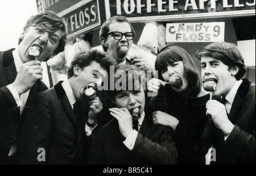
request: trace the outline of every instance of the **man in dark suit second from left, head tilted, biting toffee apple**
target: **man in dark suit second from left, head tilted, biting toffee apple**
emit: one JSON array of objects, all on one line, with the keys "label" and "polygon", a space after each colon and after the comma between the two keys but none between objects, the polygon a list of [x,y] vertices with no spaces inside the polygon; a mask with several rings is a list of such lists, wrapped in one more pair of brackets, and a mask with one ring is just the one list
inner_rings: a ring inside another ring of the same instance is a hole
[{"label": "man in dark suit second from left, head tilted, biting toffee apple", "polygon": [[86,97],[84,91],[96,90],[110,65],[113,59],[97,50],[81,52],[67,81],[35,95],[21,125],[19,164],[84,164],[86,139],[102,110],[97,94]]}]

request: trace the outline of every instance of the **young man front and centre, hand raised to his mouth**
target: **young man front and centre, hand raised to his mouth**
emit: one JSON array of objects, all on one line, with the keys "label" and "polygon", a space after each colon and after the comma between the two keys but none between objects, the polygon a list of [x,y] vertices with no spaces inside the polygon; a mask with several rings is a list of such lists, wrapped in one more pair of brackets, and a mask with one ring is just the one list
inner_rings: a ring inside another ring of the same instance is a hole
[{"label": "young man front and centre, hand raised to his mouth", "polygon": [[116,106],[109,109],[113,120],[91,136],[88,164],[176,164],[174,131],[153,124],[142,72],[134,65],[115,70],[115,87],[109,91]]}]

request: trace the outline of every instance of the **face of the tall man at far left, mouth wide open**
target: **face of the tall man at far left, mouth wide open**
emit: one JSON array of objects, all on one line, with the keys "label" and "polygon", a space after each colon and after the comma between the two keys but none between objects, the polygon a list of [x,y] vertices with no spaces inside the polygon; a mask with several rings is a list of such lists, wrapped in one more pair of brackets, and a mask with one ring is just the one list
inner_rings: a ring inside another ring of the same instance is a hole
[{"label": "face of the tall man at far left, mouth wide open", "polygon": [[40,51],[37,60],[41,62],[46,60],[46,58],[51,56],[58,47],[61,34],[61,30],[49,33],[42,25],[27,28],[27,30],[23,31],[22,36],[20,37],[23,39],[18,46],[20,58],[24,63],[35,60],[35,57],[28,55],[28,49],[32,46],[36,46]]}]

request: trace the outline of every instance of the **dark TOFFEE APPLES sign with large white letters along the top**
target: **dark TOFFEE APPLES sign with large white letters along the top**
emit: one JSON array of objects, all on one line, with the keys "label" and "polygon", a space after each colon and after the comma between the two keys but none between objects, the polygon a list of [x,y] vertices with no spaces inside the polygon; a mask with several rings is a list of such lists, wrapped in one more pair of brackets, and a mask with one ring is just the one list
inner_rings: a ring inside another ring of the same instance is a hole
[{"label": "dark TOFFEE APPLES sign with large white letters along the top", "polygon": [[105,0],[106,17],[131,22],[164,21],[225,15],[255,15],[256,0]]}]

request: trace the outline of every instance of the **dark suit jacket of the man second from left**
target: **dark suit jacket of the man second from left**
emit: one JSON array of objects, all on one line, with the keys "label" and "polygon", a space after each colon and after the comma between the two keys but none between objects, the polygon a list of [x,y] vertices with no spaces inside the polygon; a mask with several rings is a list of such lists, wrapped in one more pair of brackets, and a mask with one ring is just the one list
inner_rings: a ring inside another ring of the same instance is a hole
[{"label": "dark suit jacket of the man second from left", "polygon": [[[79,101],[75,115],[61,82],[32,100],[21,124],[19,164],[84,164],[89,106]],[[39,148],[46,150],[46,161],[38,161]]]}]

